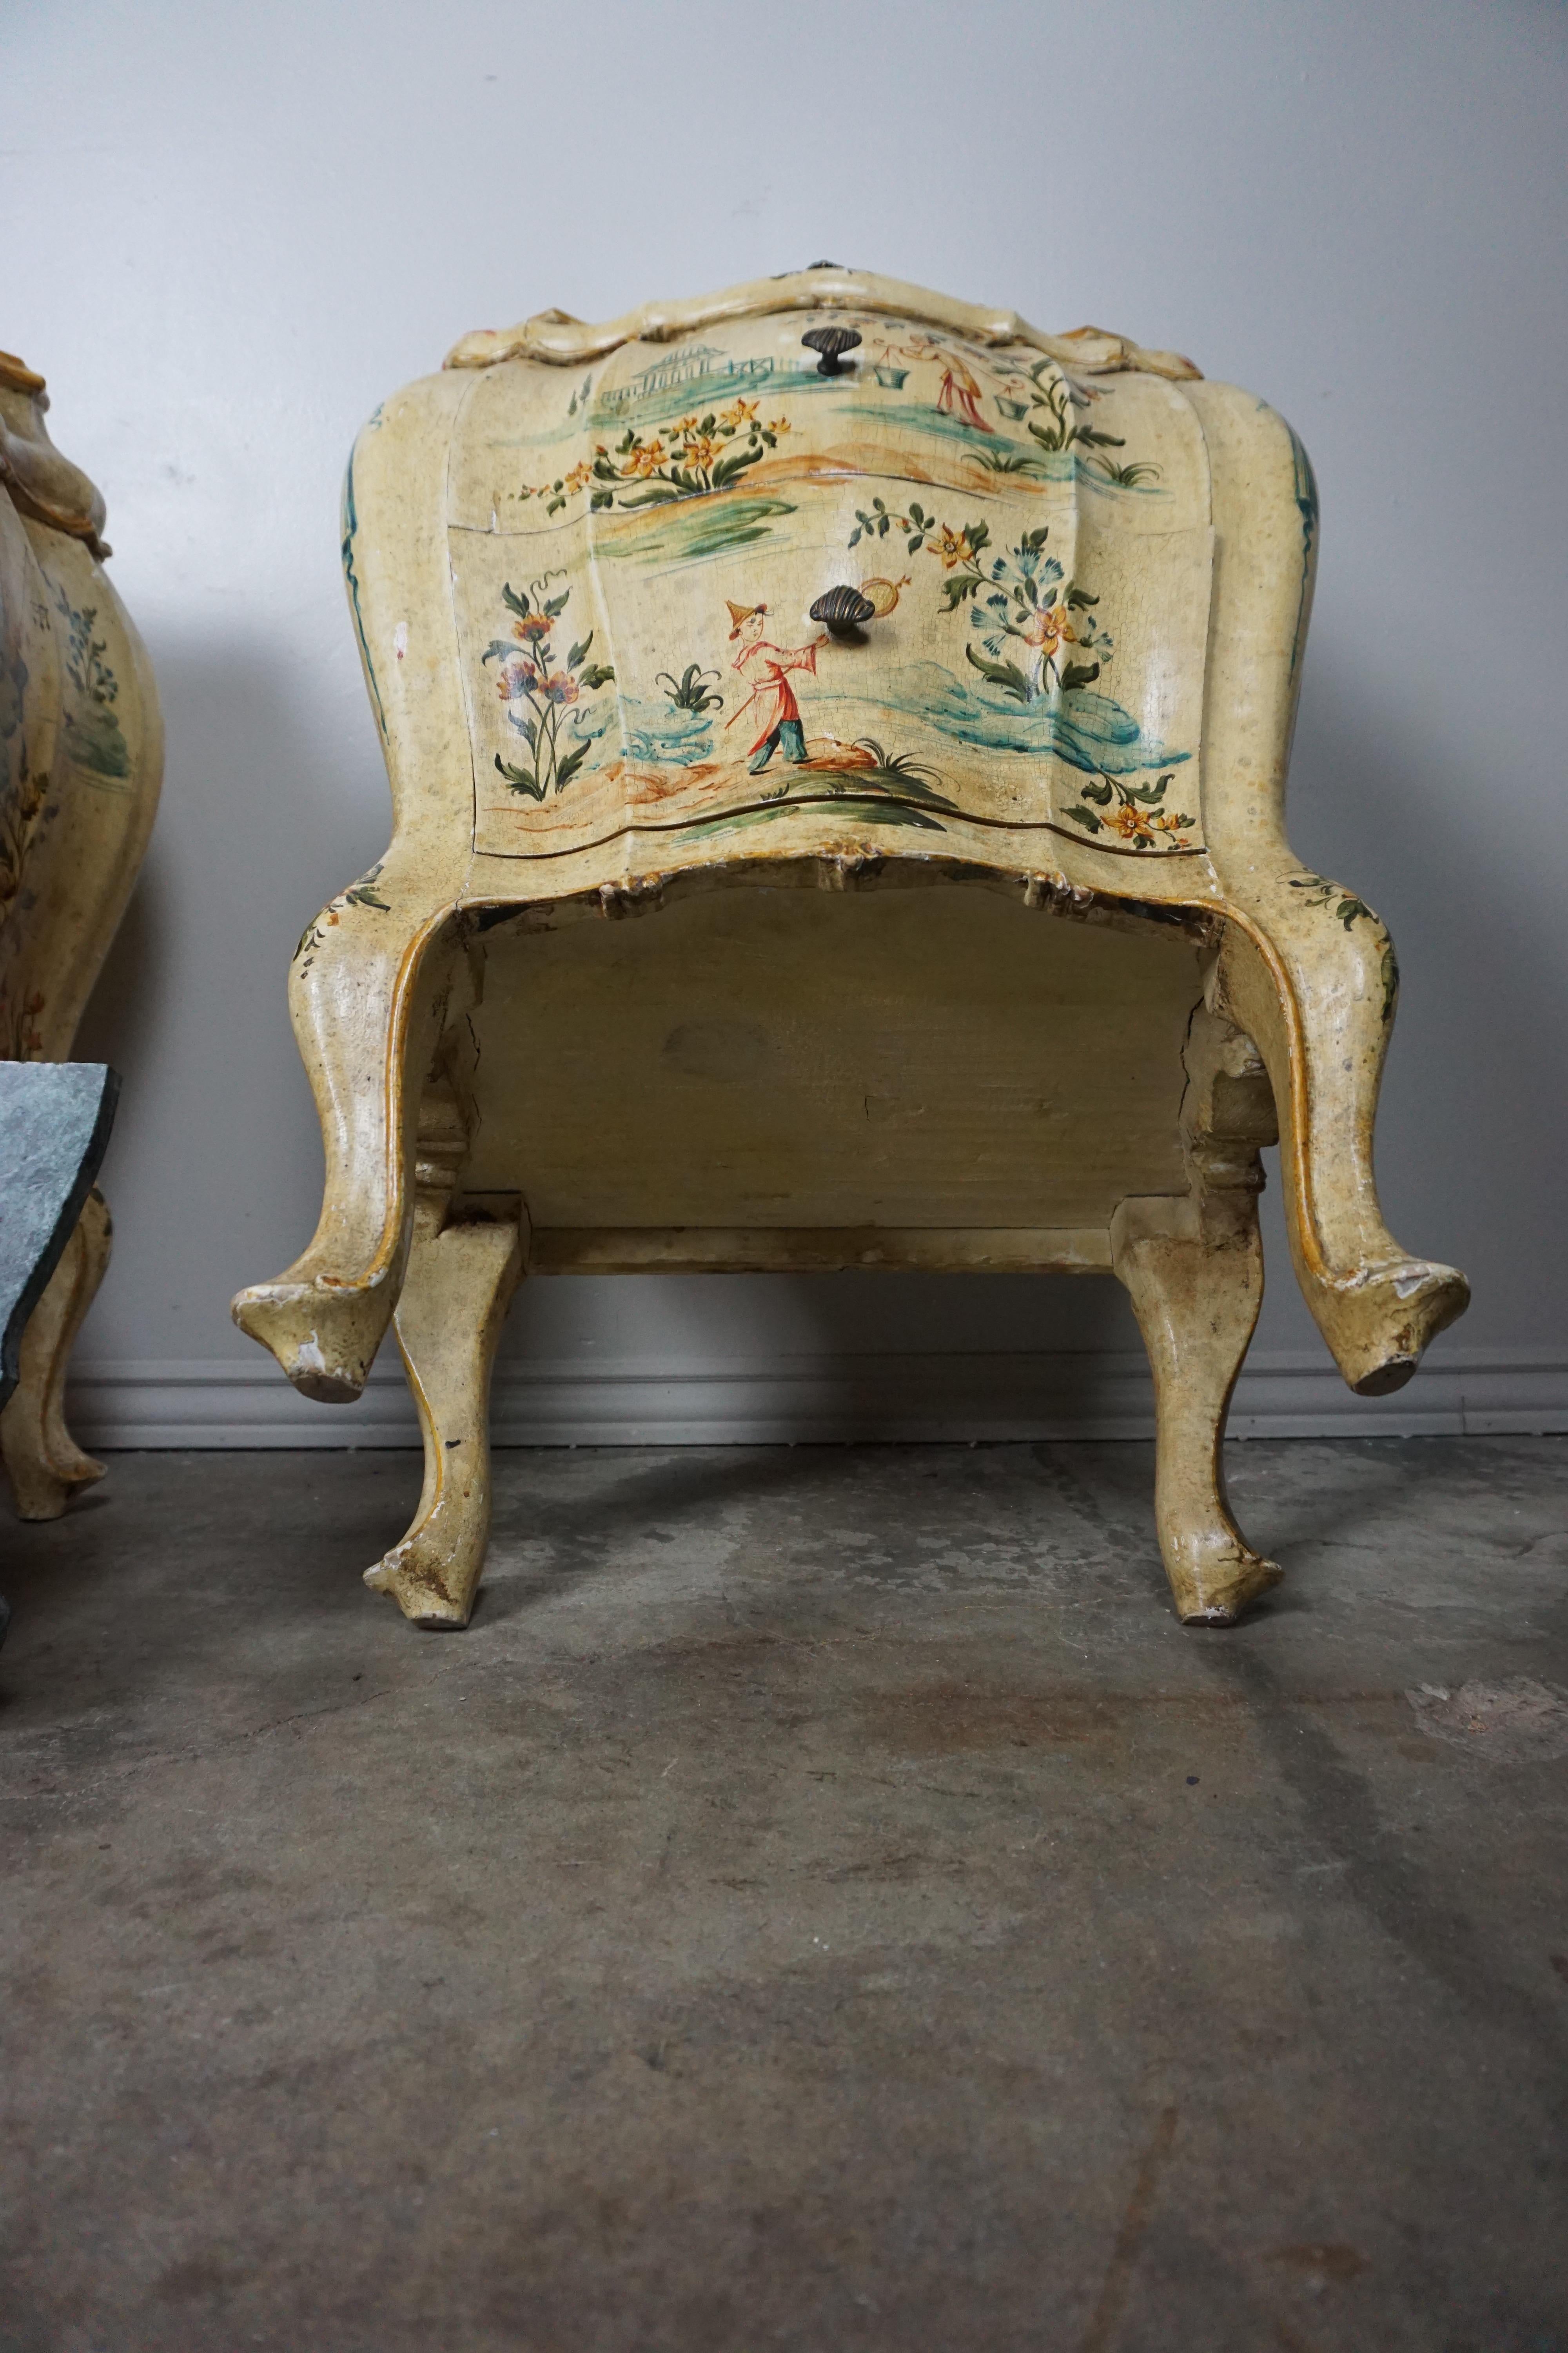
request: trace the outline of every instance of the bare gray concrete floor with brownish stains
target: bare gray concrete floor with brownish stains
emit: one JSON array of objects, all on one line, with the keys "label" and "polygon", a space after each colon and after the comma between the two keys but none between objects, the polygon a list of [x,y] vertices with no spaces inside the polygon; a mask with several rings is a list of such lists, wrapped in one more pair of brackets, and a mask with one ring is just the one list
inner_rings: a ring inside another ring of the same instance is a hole
[{"label": "bare gray concrete floor with brownish stains", "polygon": [[1234,1633],[1131,1445],[7,1527],[0,2344],[1561,2353],[1568,1440],[1232,1461]]}]

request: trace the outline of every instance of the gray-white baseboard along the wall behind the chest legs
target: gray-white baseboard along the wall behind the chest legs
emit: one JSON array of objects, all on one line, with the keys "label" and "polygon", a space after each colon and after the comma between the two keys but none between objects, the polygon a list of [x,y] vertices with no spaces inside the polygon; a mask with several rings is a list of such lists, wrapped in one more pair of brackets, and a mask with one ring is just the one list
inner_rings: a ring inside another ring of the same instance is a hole
[{"label": "gray-white baseboard along the wall behind the chest legs", "polygon": [[[87,1447],[411,1447],[395,1362],[357,1405],[313,1405],[263,1360],[103,1362],[71,1381]],[[846,1440],[1150,1438],[1150,1374],[1135,1353],[889,1353],[512,1360],[498,1367],[491,1435],[503,1447],[842,1445]],[[1568,1355],[1434,1358],[1394,1398],[1354,1398],[1307,1351],[1253,1355],[1232,1438],[1441,1438],[1568,1431]]]}]

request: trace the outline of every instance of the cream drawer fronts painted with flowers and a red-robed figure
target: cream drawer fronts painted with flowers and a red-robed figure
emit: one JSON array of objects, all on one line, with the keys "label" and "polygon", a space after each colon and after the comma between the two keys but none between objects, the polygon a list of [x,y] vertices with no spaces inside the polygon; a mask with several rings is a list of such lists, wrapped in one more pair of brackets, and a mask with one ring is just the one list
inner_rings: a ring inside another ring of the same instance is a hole
[{"label": "cream drawer fronts painted with flowers and a red-robed figure", "polygon": [[[475,381],[447,520],[482,854],[1201,856],[1211,527],[1182,393],[844,325],[865,358],[835,376],[785,315]],[[858,640],[809,619],[835,586],[875,609]],[[795,673],[766,753],[752,616]]]}]

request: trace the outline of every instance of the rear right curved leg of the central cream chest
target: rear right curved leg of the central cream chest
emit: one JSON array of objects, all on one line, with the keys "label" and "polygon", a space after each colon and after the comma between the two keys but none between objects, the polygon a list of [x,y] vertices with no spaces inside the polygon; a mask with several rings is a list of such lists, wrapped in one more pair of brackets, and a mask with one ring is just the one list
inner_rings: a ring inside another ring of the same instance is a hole
[{"label": "rear right curved leg of the central cream chest", "polygon": [[1154,1372],[1154,1518],[1185,1626],[1234,1626],[1281,1569],[1229,1515],[1220,1445],[1262,1304],[1253,1193],[1126,1200],[1112,1257]]}]

